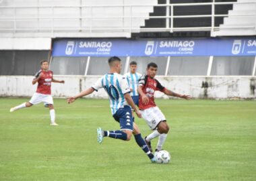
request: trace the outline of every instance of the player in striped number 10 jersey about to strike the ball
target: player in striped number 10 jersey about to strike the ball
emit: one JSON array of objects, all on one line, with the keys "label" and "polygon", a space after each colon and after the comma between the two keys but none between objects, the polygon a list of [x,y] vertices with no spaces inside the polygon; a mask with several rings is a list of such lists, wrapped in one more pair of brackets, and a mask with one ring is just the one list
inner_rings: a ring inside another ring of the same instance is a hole
[{"label": "player in striped number 10 jersey about to strike the ball", "polygon": [[141,117],[141,113],[133,103],[133,99],[131,99],[127,79],[120,74],[122,68],[121,60],[119,57],[113,56],[108,59],[108,64],[110,66],[110,72],[108,74],[98,79],[98,81],[92,87],[86,89],[86,91],[79,93],[75,97],[69,97],[67,103],[73,103],[79,97],[90,95],[94,91],[98,91],[99,88],[104,88],[109,97],[111,113],[114,119],[119,122],[121,130],[103,131],[99,127],[97,129],[98,143],[102,143],[103,137],[129,141],[131,135],[134,135],[137,145],[143,149],[143,152],[148,155],[152,162],[155,162],[156,159],[152,152],[150,152],[145,140],[141,137],[139,128],[133,123],[131,107],[138,117]]}]

